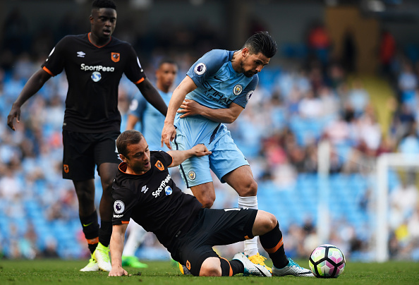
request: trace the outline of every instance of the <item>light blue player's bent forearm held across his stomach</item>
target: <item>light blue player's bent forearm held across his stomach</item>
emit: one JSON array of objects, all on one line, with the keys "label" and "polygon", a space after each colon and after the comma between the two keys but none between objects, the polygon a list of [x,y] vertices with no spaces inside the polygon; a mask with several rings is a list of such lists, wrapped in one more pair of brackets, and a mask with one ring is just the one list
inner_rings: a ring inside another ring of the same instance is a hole
[{"label": "light blue player's bent forearm held across his stomach", "polygon": [[194,100],[184,99],[181,104],[181,109],[178,109],[178,113],[182,113],[181,118],[186,116],[201,115],[217,123],[233,123],[233,121],[236,121],[238,115],[241,114],[243,109],[243,107],[236,103],[231,103],[229,108],[226,109],[211,109],[202,106]]}]

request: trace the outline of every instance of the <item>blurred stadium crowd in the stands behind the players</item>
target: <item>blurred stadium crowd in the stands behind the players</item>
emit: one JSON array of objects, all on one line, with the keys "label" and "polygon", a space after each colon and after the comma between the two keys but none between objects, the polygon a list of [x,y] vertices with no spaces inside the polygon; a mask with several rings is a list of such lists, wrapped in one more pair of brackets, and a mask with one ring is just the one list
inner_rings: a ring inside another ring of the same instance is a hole
[{"label": "blurred stadium crowd in the stands behind the players", "polygon": [[[54,44],[63,35],[85,30],[66,25],[62,35],[41,32],[34,37],[25,35],[24,20],[16,15],[6,19],[5,27],[0,53],[0,253],[11,259],[87,257],[73,184],[61,178],[66,75],[49,80],[23,106],[15,132],[6,125],[11,104]],[[321,140],[331,143],[329,207],[333,230],[329,243],[354,260],[372,260],[375,159],[384,152],[419,153],[419,53],[398,47],[391,42],[391,35],[387,36],[390,38],[383,36],[382,41],[382,70],[377,72],[391,83],[393,99],[374,102],[351,65],[350,43],[345,58],[332,59],[327,32],[317,26],[298,48],[281,46],[277,39],[277,57],[284,64],[269,64],[260,73],[260,83],[248,106],[229,126],[258,181],[259,208],[279,219],[291,257],[308,257],[318,245],[317,202],[322,184],[317,176],[317,148]],[[162,56],[178,63],[179,82],[197,56],[223,47],[222,39],[209,28],[178,30],[171,37],[156,35],[148,45],[144,43],[150,39],[116,37],[133,42],[151,80]],[[123,78],[119,108],[124,119],[135,92],[138,90]],[[389,108],[391,123],[379,123],[377,108]],[[176,171],[174,176],[183,185]],[[391,257],[419,260],[415,175],[401,178],[390,171],[389,185]],[[215,186],[214,207],[236,207],[236,193],[219,182]],[[97,181],[97,199],[101,193]],[[156,255],[156,250],[161,254]],[[235,250],[234,246],[220,248],[226,256]],[[138,255],[168,257],[152,236],[147,237]]]}]

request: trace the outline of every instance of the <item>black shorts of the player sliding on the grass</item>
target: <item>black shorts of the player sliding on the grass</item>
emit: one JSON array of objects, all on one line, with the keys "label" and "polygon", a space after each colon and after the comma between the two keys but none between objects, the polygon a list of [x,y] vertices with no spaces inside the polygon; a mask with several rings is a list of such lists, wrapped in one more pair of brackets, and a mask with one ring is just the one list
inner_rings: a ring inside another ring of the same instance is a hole
[{"label": "black shorts of the player sliding on the grass", "polygon": [[257,210],[245,208],[202,209],[188,233],[175,238],[169,248],[171,257],[198,276],[202,262],[219,257],[214,245],[228,245],[253,238],[252,228]]}]

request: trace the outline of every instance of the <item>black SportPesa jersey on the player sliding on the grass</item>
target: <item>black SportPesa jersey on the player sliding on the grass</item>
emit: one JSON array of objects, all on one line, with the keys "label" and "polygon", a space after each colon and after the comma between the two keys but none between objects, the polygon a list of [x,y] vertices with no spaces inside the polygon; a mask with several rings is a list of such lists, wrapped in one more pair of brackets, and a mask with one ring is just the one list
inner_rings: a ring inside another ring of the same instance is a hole
[{"label": "black SportPesa jersey on the player sliding on the grass", "polygon": [[126,174],[119,164],[114,180],[112,224],[128,224],[130,218],[146,231],[152,231],[169,248],[172,238],[186,234],[202,204],[183,193],[169,175],[172,157],[163,151],[150,152],[151,169],[142,175]]}]

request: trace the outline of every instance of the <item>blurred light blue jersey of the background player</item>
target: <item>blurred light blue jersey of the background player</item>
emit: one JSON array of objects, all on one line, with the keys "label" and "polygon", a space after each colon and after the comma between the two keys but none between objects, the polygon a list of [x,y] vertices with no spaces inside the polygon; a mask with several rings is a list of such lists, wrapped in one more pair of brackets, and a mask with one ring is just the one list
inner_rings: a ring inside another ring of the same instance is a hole
[{"label": "blurred light blue jersey of the background player", "polygon": [[[158,90],[160,96],[162,96],[164,103],[169,105],[172,93],[165,93],[162,90]],[[166,145],[161,147],[162,130],[164,126],[165,116],[162,115],[156,108],[147,102],[147,100],[140,94],[136,94],[130,104],[130,115],[136,116],[141,121],[141,127],[138,131],[144,135],[147,140],[150,150],[169,150]]]}]

